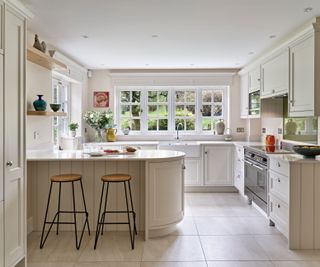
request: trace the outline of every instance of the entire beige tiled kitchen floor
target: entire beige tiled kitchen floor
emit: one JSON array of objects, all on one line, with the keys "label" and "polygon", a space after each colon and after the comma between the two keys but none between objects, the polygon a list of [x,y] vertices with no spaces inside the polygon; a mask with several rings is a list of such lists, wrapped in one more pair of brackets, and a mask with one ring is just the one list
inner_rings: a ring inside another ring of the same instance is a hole
[{"label": "entire beige tiled kitchen floor", "polygon": [[290,251],[286,239],[238,194],[188,193],[186,216],[171,235],[131,250],[127,232],[107,232],[79,251],[74,234],[28,237],[28,267],[320,267],[320,251]]}]

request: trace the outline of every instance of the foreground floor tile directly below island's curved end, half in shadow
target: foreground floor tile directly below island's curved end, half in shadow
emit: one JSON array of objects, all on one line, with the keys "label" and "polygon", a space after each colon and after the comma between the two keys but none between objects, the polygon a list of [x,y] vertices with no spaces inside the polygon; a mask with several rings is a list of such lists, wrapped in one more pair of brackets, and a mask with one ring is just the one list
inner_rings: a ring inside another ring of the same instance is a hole
[{"label": "foreground floor tile directly below island's curved end, half in shadow", "polygon": [[167,236],[145,242],[142,261],[202,261],[198,236]]}]

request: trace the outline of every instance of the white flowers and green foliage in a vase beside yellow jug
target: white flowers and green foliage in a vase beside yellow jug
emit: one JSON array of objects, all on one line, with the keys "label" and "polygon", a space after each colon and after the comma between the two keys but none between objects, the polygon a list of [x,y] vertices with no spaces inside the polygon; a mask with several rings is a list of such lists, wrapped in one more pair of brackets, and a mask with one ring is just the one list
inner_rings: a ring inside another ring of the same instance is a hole
[{"label": "white flowers and green foliage in a vase beside yellow jug", "polygon": [[114,127],[113,114],[110,109],[107,111],[87,111],[83,119],[96,130],[96,142],[102,142],[102,131]]}]

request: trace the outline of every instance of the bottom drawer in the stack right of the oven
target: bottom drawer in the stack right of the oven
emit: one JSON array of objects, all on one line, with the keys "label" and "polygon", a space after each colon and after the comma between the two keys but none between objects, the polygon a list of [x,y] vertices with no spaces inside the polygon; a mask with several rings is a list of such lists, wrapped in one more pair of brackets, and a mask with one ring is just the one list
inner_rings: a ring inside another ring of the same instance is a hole
[{"label": "bottom drawer in the stack right of the oven", "polygon": [[276,224],[277,229],[288,238],[289,206],[273,194],[270,194],[270,219]]}]

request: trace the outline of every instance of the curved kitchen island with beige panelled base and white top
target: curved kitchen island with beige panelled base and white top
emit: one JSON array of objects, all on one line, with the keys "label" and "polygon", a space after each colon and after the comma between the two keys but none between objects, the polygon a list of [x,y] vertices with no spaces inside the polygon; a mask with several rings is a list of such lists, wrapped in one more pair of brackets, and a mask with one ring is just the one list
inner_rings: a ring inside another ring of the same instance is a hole
[{"label": "curved kitchen island with beige panelled base and white top", "polygon": [[[133,154],[91,157],[82,151],[28,151],[28,231],[41,231],[48,197],[50,176],[63,173],[82,175],[90,228],[95,230],[101,194],[101,176],[128,173],[132,176],[136,223],[145,239],[166,235],[184,216],[184,153],[165,150],[138,150]],[[108,209],[124,210],[123,186],[112,185]],[[57,208],[58,186],[53,188],[49,216]],[[80,188],[76,199],[82,208]],[[61,209],[72,208],[71,186],[62,186]],[[125,214],[110,214],[108,220],[125,220]],[[82,223],[79,215],[79,224]],[[72,217],[65,215],[65,220]],[[106,230],[127,230],[125,225],[110,225]],[[61,225],[61,230],[73,230]]]}]

